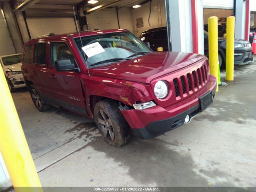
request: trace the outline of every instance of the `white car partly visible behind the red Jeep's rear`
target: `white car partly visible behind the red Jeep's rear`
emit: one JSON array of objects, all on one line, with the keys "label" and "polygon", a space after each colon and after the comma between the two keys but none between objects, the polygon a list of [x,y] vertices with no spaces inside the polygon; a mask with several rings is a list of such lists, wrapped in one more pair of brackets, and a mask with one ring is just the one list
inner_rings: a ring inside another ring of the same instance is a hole
[{"label": "white car partly visible behind the red Jeep's rear", "polygon": [[0,63],[11,92],[26,86],[21,72],[21,57],[22,54],[0,56]]}]

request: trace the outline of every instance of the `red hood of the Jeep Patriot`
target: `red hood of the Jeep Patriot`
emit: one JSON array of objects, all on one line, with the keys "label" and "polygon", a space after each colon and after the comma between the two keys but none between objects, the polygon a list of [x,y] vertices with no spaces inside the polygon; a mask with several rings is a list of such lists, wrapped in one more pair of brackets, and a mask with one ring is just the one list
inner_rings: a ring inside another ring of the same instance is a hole
[{"label": "red hood of the Jeep Patriot", "polygon": [[183,52],[154,52],[135,59],[90,69],[90,74],[133,82],[150,83],[154,78],[180,70],[205,59],[204,55]]}]

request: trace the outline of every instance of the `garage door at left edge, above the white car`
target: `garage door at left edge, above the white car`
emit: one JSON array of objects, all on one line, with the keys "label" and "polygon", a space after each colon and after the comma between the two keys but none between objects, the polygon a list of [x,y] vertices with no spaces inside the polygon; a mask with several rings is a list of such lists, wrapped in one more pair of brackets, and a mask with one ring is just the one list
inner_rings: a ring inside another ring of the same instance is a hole
[{"label": "garage door at left edge, above the white car", "polygon": [[0,9],[0,36],[0,56],[16,53],[2,9]]}]

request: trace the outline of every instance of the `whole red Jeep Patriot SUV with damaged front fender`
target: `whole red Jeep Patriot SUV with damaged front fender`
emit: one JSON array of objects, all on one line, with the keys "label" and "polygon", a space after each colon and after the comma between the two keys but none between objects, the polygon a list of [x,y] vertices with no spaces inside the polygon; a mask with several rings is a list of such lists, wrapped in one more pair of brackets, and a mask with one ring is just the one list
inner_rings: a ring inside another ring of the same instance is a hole
[{"label": "whole red Jeep Patriot SUV with damaged front fender", "polygon": [[39,111],[61,107],[94,118],[102,138],[124,145],[132,130],[149,139],[190,122],[214,98],[203,55],[153,52],[128,30],[36,38],[22,73]]}]

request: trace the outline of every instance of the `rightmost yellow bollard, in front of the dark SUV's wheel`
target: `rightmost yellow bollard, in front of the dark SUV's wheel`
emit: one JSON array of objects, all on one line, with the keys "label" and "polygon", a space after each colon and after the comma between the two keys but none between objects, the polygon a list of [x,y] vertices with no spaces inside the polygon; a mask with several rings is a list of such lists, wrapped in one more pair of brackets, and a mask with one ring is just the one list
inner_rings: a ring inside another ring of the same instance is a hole
[{"label": "rightmost yellow bollard, in front of the dark SUV's wheel", "polygon": [[235,17],[227,18],[226,80],[234,80]]}]

